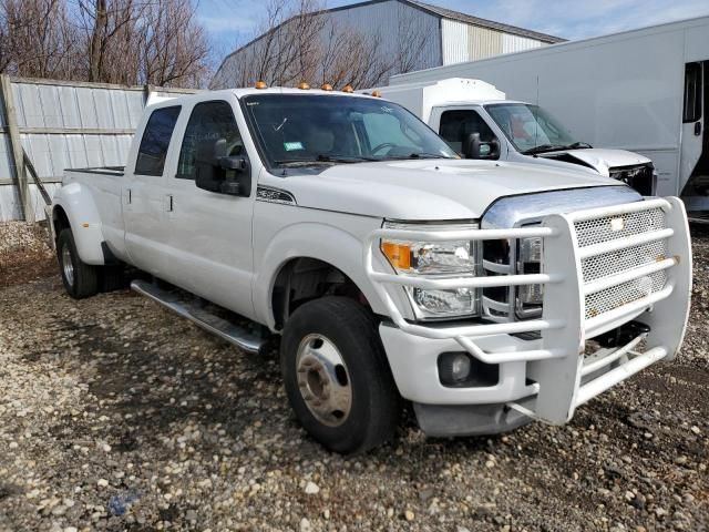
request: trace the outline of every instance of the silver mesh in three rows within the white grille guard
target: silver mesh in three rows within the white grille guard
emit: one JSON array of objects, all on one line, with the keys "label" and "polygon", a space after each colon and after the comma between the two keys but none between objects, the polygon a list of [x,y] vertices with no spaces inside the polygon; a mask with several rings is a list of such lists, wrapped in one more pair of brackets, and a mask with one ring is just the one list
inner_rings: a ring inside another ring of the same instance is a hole
[{"label": "silver mesh in three rows within the white grille guard", "polygon": [[[575,222],[574,227],[578,245],[583,248],[637,236],[643,233],[660,231],[666,228],[666,223],[662,209],[651,208],[617,216]],[[667,258],[667,246],[664,239],[600,253],[582,259],[583,279],[587,284],[664,260],[665,258]],[[586,319],[659,291],[665,287],[666,283],[667,273],[661,270],[588,294],[585,297]]]}]

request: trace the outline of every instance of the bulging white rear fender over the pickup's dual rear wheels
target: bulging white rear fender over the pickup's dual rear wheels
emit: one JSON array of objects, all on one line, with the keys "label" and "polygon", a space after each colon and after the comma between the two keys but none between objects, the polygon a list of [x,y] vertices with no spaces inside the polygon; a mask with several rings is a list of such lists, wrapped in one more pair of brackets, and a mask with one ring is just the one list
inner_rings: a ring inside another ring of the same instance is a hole
[{"label": "bulging white rear fender over the pickup's dual rear wheels", "polygon": [[86,264],[105,264],[101,216],[91,191],[81,183],[69,183],[54,194],[52,209],[56,206],[66,213],[79,257]]}]

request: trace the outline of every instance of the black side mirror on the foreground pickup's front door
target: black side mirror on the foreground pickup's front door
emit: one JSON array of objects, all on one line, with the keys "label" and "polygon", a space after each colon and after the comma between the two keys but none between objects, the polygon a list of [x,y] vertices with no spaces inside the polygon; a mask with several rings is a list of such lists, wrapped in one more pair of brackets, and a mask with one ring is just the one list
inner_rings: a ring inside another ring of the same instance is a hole
[{"label": "black side mirror on the foreground pickup's front door", "polygon": [[195,152],[197,188],[232,196],[250,196],[251,165],[248,156],[245,153],[230,156],[226,152],[226,139],[197,143]]}]

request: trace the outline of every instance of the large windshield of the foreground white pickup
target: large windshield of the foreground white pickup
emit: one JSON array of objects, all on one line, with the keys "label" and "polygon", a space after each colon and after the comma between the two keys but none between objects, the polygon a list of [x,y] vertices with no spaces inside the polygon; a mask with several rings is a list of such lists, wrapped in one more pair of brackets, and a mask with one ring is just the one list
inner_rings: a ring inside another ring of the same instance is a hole
[{"label": "large windshield of the foreground white pickup", "polygon": [[458,157],[413,114],[383,100],[256,94],[244,104],[270,167]]}]

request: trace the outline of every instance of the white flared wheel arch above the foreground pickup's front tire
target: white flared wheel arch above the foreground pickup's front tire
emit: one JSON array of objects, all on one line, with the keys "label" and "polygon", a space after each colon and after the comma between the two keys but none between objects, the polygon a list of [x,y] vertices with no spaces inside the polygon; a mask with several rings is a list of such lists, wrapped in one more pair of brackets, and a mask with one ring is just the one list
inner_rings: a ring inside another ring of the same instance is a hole
[{"label": "white flared wheel arch above the foreground pickup's front tire", "polygon": [[[377,295],[364,273],[362,262],[362,239],[338,227],[318,223],[298,223],[278,232],[269,241],[257,275],[254,280],[254,308],[260,323],[274,329],[273,291],[280,269],[294,258],[315,258],[330,264],[347,275],[362,291],[376,314],[387,315],[381,299]],[[387,268],[382,257],[377,257]],[[391,294],[400,308],[409,304],[401,290]]]}]

